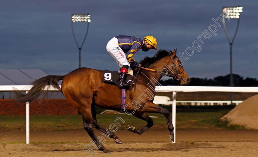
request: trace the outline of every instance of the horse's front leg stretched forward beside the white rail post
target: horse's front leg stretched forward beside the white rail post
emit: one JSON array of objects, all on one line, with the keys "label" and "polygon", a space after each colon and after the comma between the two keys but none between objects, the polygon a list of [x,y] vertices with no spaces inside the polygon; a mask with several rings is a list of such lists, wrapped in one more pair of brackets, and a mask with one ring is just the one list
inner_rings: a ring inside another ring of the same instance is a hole
[{"label": "horse's front leg stretched forward beside the white rail post", "polygon": [[151,101],[146,101],[145,105],[141,106],[139,109],[137,109],[137,111],[147,113],[162,113],[166,117],[168,130],[170,131],[169,138],[174,142],[174,127],[170,118],[170,113],[167,109],[160,107]]}]

